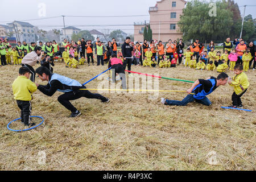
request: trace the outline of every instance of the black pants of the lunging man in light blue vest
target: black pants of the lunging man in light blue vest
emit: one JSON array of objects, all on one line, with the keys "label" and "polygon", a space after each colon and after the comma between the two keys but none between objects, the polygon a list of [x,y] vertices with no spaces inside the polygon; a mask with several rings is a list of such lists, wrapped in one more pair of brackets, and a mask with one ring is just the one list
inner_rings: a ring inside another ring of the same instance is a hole
[{"label": "black pants of the lunging man in light blue vest", "polygon": [[[83,86],[82,88],[86,89],[85,86]],[[90,93],[88,90],[77,90],[76,92],[67,92],[67,93],[62,94],[61,96],[58,97],[58,101],[60,102],[61,105],[66,107],[72,113],[75,113],[77,111],[77,109],[69,101],[77,100],[81,97],[96,98],[101,101],[107,100],[107,98],[101,96],[101,94]]]}]

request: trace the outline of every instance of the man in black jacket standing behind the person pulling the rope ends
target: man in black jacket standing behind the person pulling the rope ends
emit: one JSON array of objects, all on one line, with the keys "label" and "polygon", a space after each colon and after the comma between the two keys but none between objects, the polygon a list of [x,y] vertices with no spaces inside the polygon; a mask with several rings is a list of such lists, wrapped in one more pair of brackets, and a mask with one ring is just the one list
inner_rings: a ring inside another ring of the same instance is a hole
[{"label": "man in black jacket standing behind the person pulling the rope ends", "polygon": [[122,45],[122,55],[123,55],[123,68],[126,69],[126,65],[128,64],[127,67],[129,71],[131,71],[131,61],[133,59],[133,56],[131,55],[132,51],[133,51],[133,46],[131,45],[131,38],[127,36],[127,38],[125,39],[125,42]]}]

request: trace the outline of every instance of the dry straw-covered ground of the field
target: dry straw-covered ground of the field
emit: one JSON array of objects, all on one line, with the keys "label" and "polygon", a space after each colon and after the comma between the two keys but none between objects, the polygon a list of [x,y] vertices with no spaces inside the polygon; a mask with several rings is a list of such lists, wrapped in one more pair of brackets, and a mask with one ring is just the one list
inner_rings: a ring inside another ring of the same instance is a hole
[{"label": "dry straw-covered ground of the field", "polygon": [[[68,118],[69,111],[57,102],[61,93],[47,97],[37,91],[32,115],[44,117],[45,122],[37,129],[16,133],[6,126],[19,117],[11,89],[18,69],[14,65],[0,68],[1,170],[255,170],[255,71],[247,72],[250,88],[242,97],[251,113],[220,108],[231,104],[229,85],[210,94],[213,105],[209,107],[160,104],[161,97],[181,100],[185,93],[159,93],[156,100],[148,99],[150,93],[104,94],[110,98],[109,104],[81,98],[72,102],[82,113],[74,119]],[[106,66],[71,69],[56,63],[54,69],[85,82]],[[133,66],[132,70],[192,81],[217,76],[216,72],[183,66]],[[42,84],[39,78],[36,82]],[[97,88],[98,83],[94,80],[87,87]],[[187,90],[190,85],[159,80],[161,90]],[[19,122],[13,125],[21,126]],[[40,151],[46,152],[45,164],[38,163]],[[211,151],[217,154],[217,165],[208,163]]]}]

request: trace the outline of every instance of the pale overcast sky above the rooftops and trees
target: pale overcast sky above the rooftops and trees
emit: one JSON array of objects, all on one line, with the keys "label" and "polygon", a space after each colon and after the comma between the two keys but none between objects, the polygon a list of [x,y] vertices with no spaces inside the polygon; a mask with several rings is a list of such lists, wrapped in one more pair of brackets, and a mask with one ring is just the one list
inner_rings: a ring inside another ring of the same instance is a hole
[{"label": "pale overcast sky above the rooftops and trees", "polygon": [[[63,18],[57,17],[43,20],[30,20],[38,18],[48,18],[52,16],[125,16],[125,15],[148,15],[148,16],[133,16],[133,17],[115,17],[115,18],[77,18],[65,17],[65,26],[75,26],[82,30],[96,29],[110,31],[120,28],[128,34],[133,34],[133,22],[143,22],[149,20],[148,8],[155,6],[156,0],[0,0],[1,9],[0,24],[13,22],[13,20],[28,20],[39,29],[50,30],[53,28],[60,29],[63,27]],[[188,0],[189,1],[189,0]],[[255,0],[235,0],[238,6],[256,5]],[[39,16],[38,7],[40,3],[46,5],[46,16]],[[7,8],[11,7],[11,9]],[[256,18],[256,6],[246,7],[245,15],[251,14]],[[243,14],[243,7],[240,7],[241,14]],[[121,26],[121,25],[126,26]],[[88,25],[101,25],[88,27]],[[113,25],[113,26],[102,26]],[[119,26],[117,26],[119,25]],[[130,25],[130,26],[129,26]]]}]

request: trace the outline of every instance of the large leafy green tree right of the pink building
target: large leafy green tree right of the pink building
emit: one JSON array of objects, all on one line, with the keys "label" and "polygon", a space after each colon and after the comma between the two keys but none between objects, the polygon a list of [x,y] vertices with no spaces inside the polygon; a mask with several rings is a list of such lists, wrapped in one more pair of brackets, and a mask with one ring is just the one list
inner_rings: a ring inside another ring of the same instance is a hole
[{"label": "large leafy green tree right of the pink building", "polygon": [[[232,32],[233,13],[226,1],[216,1],[216,16],[210,16],[209,2],[189,1],[183,9],[178,26],[186,41],[199,38],[200,42],[222,42]],[[236,32],[237,34],[237,32]]]}]

